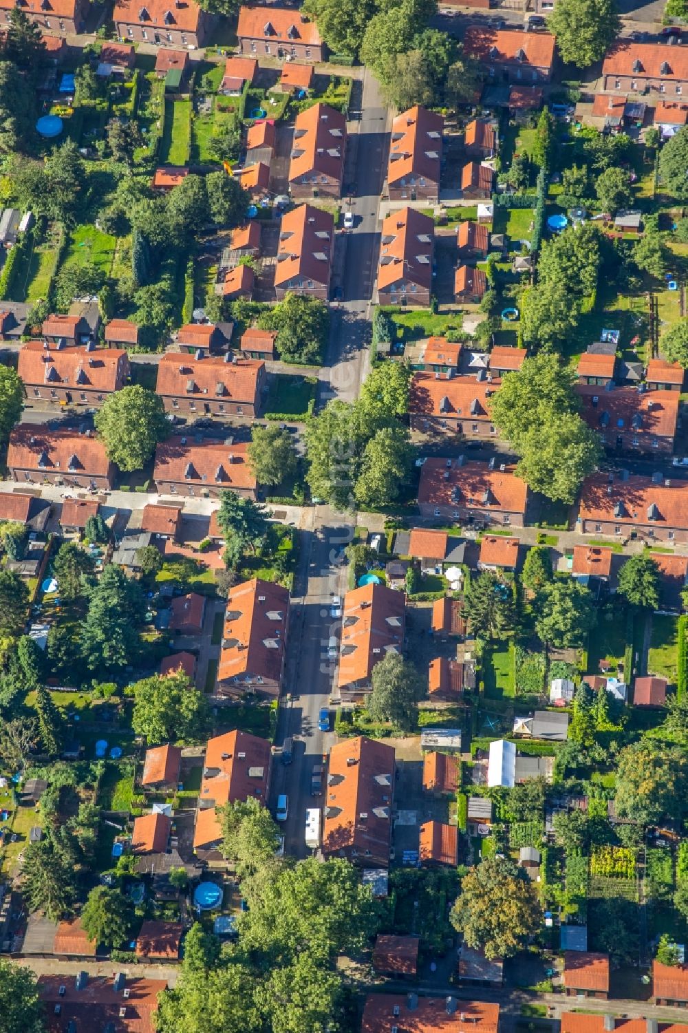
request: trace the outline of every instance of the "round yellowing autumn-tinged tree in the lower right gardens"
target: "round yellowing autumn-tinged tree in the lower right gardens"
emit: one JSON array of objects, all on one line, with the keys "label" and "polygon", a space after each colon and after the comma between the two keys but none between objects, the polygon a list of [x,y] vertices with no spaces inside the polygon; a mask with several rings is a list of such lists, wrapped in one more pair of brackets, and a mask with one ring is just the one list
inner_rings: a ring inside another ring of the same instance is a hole
[{"label": "round yellowing autumn-tinged tree in the lower right gardens", "polygon": [[526,872],[494,857],[464,876],[450,921],[469,947],[487,958],[510,958],[539,931],[542,908]]}]

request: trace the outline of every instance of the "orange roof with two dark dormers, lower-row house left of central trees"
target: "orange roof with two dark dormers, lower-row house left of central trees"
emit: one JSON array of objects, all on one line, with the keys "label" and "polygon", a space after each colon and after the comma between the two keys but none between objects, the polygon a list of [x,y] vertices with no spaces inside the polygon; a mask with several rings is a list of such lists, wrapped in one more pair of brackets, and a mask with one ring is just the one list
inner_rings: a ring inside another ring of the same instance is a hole
[{"label": "orange roof with two dark dormers, lower-row house left of central trees", "polygon": [[182,444],[181,437],[168,438],[155,450],[153,477],[158,482],[254,491],[256,480],[246,461],[246,449],[245,441],[227,445],[209,438]]}]

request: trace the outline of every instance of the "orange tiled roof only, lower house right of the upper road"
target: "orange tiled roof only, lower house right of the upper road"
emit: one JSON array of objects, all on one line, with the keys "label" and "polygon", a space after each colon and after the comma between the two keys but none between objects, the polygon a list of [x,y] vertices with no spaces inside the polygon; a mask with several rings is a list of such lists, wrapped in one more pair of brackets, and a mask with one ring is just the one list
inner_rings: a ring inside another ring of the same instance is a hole
[{"label": "orange tiled roof only, lower house right of the upper road", "polygon": [[430,289],[434,241],[435,223],[430,216],[413,208],[390,212],[382,223],[378,289],[384,290],[398,280]]}]

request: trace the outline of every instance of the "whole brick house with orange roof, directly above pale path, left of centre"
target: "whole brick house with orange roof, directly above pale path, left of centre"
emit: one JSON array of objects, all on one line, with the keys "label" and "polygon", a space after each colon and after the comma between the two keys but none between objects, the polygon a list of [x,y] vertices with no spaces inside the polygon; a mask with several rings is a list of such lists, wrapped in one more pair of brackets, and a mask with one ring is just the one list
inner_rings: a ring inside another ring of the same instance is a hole
[{"label": "whole brick house with orange roof, directly above pale path, left of centre", "polygon": [[256,497],[256,479],[247,462],[247,442],[175,436],[155,450],[153,479],[161,495],[216,499],[224,489]]}]

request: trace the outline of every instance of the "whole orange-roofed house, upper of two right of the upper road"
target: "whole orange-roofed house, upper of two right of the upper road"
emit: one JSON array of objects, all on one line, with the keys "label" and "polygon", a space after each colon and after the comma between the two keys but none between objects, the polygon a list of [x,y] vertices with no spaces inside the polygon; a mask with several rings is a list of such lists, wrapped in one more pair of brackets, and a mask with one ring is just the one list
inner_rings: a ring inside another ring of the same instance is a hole
[{"label": "whole orange-roofed house, upper of two right of the upper road", "polygon": [[444,119],[416,104],[392,123],[387,195],[389,200],[437,204],[442,166]]}]

